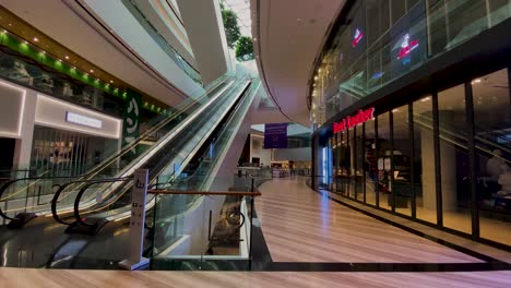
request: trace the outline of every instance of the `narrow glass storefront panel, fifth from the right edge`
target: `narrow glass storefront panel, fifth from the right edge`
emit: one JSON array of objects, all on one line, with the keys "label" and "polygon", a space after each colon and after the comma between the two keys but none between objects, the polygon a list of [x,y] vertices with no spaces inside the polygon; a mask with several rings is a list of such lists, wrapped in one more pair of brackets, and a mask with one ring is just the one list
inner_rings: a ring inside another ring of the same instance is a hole
[{"label": "narrow glass storefront panel, fifth from the right edge", "polygon": [[378,192],[380,207],[392,209],[392,142],[390,115],[384,112],[378,116]]}]

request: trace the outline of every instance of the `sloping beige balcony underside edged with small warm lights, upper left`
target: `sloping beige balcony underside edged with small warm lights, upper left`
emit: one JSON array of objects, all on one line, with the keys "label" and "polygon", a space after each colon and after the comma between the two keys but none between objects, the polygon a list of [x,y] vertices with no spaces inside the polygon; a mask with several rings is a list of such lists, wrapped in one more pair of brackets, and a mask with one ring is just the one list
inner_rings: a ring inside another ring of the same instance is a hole
[{"label": "sloping beige balcony underside edged with small warm lights, upper left", "polygon": [[[33,36],[27,37],[32,45],[55,56],[63,56],[62,61],[69,55],[76,59],[72,60],[76,63],[71,62],[76,68],[94,70],[105,81],[112,77],[114,83],[120,83],[122,80],[143,94],[154,97],[155,105],[161,103],[175,106],[187,98],[183,92],[144,62],[114,31],[107,29],[104,23],[95,19],[82,1],[31,1],[27,5],[26,1],[2,0],[0,4],[2,9],[15,14],[21,20],[19,23],[25,22],[25,26],[32,27],[31,33],[38,35],[37,43],[33,40]],[[5,29],[21,33],[20,37],[24,36],[22,31],[15,31],[9,23],[7,25]]]}]

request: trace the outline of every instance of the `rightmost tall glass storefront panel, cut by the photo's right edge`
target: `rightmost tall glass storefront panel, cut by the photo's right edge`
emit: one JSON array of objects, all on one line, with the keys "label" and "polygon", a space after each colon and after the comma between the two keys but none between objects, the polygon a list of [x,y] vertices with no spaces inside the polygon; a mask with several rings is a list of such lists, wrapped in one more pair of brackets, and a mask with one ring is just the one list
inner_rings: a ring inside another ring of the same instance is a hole
[{"label": "rightmost tall glass storefront panel, cut by the photo's right edge", "polygon": [[480,237],[511,245],[511,103],[508,70],[472,81]]}]

